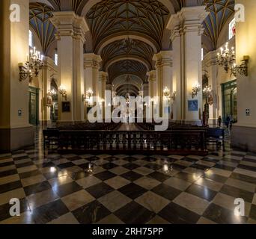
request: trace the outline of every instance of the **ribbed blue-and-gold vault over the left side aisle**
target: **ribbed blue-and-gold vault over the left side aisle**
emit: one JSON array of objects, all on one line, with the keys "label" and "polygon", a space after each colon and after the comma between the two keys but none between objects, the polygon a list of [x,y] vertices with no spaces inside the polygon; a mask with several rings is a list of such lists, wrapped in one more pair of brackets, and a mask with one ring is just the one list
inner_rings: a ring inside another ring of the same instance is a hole
[{"label": "ribbed blue-and-gold vault over the left side aisle", "polygon": [[29,8],[29,23],[40,40],[43,54],[46,55],[49,46],[55,41],[55,28],[49,21],[53,9],[39,2],[31,2]]}]

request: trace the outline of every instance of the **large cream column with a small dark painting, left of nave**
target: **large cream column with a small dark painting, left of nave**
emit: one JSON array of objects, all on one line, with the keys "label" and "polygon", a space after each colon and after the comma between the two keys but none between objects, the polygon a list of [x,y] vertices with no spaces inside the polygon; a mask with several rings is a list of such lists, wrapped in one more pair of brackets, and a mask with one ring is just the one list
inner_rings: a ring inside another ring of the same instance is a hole
[{"label": "large cream column with a small dark painting, left of nave", "polygon": [[53,15],[51,21],[57,29],[60,84],[67,90],[67,102],[70,102],[70,112],[63,112],[62,97],[58,96],[59,121],[82,122],[84,120],[83,46],[85,32],[89,28],[85,18],[77,16],[74,12],[55,12]]}]

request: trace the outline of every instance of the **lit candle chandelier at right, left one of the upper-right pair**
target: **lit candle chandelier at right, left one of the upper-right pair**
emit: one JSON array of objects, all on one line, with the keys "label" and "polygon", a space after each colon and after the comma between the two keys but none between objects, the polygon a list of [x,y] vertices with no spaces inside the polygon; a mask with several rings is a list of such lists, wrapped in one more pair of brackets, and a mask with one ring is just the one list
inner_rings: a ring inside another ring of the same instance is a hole
[{"label": "lit candle chandelier at right, left one of the upper-right pair", "polygon": [[234,60],[236,60],[234,47],[230,50],[228,49],[228,43],[226,43],[225,49],[221,48],[221,52],[218,52],[217,58],[219,66],[224,66],[225,71],[228,72],[230,66],[234,63]]}]

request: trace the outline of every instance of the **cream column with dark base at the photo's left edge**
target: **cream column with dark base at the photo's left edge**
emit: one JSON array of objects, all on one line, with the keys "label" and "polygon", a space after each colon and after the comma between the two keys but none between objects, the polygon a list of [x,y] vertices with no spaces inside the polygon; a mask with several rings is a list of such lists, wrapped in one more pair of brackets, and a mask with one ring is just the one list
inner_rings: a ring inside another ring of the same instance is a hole
[{"label": "cream column with dark base at the photo's left edge", "polygon": [[[10,21],[10,5],[19,4],[20,19]],[[34,144],[34,129],[28,117],[28,79],[19,81],[19,63],[28,49],[29,1],[0,1],[0,152]]]}]

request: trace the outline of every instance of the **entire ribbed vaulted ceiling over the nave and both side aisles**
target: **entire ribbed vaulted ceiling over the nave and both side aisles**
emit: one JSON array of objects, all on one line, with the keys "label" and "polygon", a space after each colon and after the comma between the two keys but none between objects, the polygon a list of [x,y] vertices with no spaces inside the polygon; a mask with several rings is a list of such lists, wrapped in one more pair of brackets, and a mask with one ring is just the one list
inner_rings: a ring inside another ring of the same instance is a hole
[{"label": "entire ribbed vaulted ceiling over the nave and both side aisles", "polygon": [[[52,11],[73,10],[85,16],[91,30],[91,50],[103,58],[109,83],[130,74],[146,81],[153,69],[153,54],[168,41],[165,25],[171,13],[187,4],[205,4],[204,38],[216,49],[223,26],[234,13],[234,0],[30,0],[30,25],[40,39],[44,54],[55,41],[49,18]],[[127,37],[130,36],[130,37]],[[136,36],[136,37],[134,37]],[[112,40],[115,39],[115,40]],[[100,49],[100,50],[99,50]]]}]

